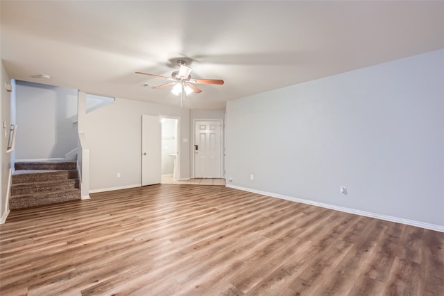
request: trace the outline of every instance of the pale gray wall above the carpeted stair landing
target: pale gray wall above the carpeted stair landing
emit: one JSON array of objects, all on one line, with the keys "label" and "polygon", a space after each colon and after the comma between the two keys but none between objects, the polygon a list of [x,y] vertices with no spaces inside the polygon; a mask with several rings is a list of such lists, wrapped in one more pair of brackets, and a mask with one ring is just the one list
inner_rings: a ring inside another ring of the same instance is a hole
[{"label": "pale gray wall above the carpeted stair landing", "polygon": [[77,147],[77,90],[17,81],[16,159],[63,158]]}]

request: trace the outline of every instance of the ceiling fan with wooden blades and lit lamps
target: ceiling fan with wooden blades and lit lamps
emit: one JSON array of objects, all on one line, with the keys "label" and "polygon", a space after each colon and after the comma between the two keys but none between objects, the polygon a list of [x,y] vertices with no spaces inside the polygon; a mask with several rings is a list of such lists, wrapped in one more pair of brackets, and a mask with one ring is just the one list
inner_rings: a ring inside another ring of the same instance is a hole
[{"label": "ceiling fan with wooden blades and lit lamps", "polygon": [[184,60],[178,60],[178,66],[179,66],[179,70],[173,71],[173,73],[171,73],[171,77],[149,74],[149,73],[144,73],[144,72],[135,72],[135,73],[171,80],[171,82],[168,82],[168,83],[165,83],[164,85],[159,85],[159,86],[153,87],[153,88],[157,89],[157,88],[161,88],[161,87],[174,86],[173,90],[171,91],[171,92],[173,92],[173,94],[184,94],[184,92],[186,92],[187,94],[189,94],[191,92],[194,92],[195,94],[199,94],[202,92],[202,90],[200,90],[198,87],[196,87],[195,84],[223,85],[223,83],[224,83],[224,81],[221,79],[192,79],[190,73],[193,69],[188,67]]}]

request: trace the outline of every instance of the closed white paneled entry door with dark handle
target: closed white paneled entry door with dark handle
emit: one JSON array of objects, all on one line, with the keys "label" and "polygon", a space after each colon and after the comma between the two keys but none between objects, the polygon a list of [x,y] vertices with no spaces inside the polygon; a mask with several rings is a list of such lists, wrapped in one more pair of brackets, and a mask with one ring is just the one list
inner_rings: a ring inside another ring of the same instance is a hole
[{"label": "closed white paneled entry door with dark handle", "polygon": [[194,177],[221,177],[221,131],[222,121],[196,121],[194,132]]}]

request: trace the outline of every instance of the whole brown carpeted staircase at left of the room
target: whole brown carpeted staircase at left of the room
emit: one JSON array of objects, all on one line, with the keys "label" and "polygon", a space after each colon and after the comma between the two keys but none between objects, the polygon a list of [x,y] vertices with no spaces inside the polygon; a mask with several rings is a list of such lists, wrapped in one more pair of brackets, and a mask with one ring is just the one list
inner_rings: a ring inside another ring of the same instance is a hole
[{"label": "whole brown carpeted staircase at left of the room", "polygon": [[80,200],[76,162],[16,162],[10,209]]}]

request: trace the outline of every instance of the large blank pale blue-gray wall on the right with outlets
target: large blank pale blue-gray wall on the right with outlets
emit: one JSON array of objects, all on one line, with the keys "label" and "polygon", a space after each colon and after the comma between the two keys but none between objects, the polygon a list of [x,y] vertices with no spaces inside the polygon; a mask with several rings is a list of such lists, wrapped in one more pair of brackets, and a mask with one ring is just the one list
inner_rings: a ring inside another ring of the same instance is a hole
[{"label": "large blank pale blue-gray wall on the right with outlets", "polygon": [[228,184],[444,231],[443,114],[444,49],[229,101]]}]

